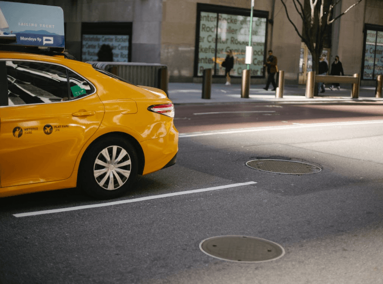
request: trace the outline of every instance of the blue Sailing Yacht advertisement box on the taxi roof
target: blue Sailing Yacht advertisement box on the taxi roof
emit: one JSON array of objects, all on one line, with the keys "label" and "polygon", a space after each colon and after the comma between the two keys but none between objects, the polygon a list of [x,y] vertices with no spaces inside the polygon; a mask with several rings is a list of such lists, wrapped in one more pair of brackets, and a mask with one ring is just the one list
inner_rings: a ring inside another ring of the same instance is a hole
[{"label": "blue Sailing Yacht advertisement box on the taxi roof", "polygon": [[0,1],[0,39],[9,39],[11,44],[64,50],[63,9]]}]

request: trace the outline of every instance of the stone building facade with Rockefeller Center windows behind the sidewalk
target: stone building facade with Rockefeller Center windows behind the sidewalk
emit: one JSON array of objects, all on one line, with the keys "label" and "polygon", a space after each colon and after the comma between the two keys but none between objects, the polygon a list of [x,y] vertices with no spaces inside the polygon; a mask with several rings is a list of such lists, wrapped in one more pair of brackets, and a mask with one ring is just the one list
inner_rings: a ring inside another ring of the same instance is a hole
[{"label": "stone building facade with Rockefeller Center windows behind the sidewalk", "polygon": [[[21,1],[21,0],[20,0]],[[231,49],[232,81],[246,69],[251,0],[30,0],[64,10],[66,48],[82,61],[97,60],[102,44],[113,48],[114,61],[161,63],[171,82],[201,82],[206,68],[213,82],[224,82],[220,63]],[[298,30],[302,23],[292,0],[285,0]],[[341,0],[339,14],[356,0]],[[329,65],[340,57],[346,75],[360,73],[362,84],[375,85],[383,74],[383,0],[362,0],[331,26]],[[281,0],[255,0],[251,25],[251,82],[265,82],[267,51],[278,57],[287,83],[305,82],[311,61],[307,48],[287,19]]]}]

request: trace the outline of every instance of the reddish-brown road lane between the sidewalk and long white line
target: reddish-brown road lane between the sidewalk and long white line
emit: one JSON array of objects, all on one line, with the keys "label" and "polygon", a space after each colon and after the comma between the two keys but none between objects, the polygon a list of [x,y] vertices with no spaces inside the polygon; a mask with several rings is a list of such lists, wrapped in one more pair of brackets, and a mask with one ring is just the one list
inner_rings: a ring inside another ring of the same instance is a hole
[{"label": "reddish-brown road lane between the sidewalk and long white line", "polygon": [[307,123],[380,120],[383,103],[177,105],[180,133]]}]

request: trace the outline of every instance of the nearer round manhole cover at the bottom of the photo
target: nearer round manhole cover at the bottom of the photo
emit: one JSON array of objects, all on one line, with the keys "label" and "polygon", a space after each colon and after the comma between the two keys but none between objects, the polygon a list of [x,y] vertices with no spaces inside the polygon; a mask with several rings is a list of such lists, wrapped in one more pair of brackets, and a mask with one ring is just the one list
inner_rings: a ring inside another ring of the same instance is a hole
[{"label": "nearer round manhole cover at the bottom of the photo", "polygon": [[285,250],[276,243],[245,236],[209,238],[202,241],[199,248],[211,257],[237,262],[265,262],[285,254]]}]

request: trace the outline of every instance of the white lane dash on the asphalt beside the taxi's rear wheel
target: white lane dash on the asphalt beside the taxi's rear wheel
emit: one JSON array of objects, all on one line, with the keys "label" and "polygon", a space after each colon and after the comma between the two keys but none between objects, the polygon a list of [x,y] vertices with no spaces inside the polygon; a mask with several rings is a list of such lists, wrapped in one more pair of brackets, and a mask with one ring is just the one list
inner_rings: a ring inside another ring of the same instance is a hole
[{"label": "white lane dash on the asphalt beside the taxi's rear wheel", "polygon": [[112,205],[118,205],[118,204],[139,202],[139,201],[158,199],[158,198],[165,198],[165,197],[184,195],[184,194],[191,194],[191,193],[198,193],[198,192],[204,192],[204,191],[212,191],[212,190],[217,190],[217,189],[232,188],[232,187],[250,185],[250,184],[255,184],[255,183],[257,183],[257,182],[249,181],[249,182],[243,182],[243,183],[233,183],[233,184],[228,184],[228,185],[221,185],[221,186],[208,187],[208,188],[202,188],[202,189],[194,189],[194,190],[173,192],[173,193],[153,195],[153,196],[134,198],[134,199],[128,199],[128,200],[119,200],[119,201],[113,201],[113,202],[107,202],[107,203],[101,203],[101,204],[91,204],[91,205],[83,205],[83,206],[76,206],[76,207],[52,209],[52,210],[43,210],[43,211],[35,211],[35,212],[18,213],[18,214],[13,214],[13,216],[14,217],[27,217],[27,216],[35,216],[35,215],[42,215],[42,214],[52,214],[52,213],[59,213],[59,212],[66,212],[66,211],[90,209],[90,208],[96,208],[96,207],[104,207],[104,206],[112,206]]}]

